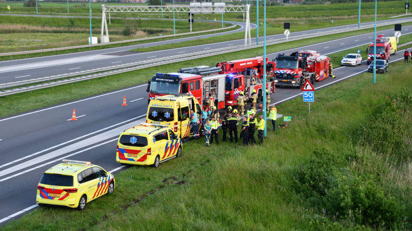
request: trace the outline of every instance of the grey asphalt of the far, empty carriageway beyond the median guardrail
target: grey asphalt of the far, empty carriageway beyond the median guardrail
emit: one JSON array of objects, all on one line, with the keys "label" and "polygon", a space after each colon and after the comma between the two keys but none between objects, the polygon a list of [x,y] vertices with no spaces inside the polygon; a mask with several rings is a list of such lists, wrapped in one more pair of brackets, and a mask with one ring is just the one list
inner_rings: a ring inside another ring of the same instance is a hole
[{"label": "grey asphalt of the far, empty carriageway beyond the median guardrail", "polygon": [[[390,19],[390,20],[384,20],[384,21],[395,22],[397,20],[399,19]],[[379,22],[383,22],[383,21],[379,21]],[[51,75],[56,75],[56,74],[70,73],[70,72],[75,72],[75,71],[80,71],[80,70],[89,70],[89,69],[94,69],[94,68],[99,68],[99,67],[113,66],[113,65],[118,65],[118,64],[137,62],[137,61],[143,61],[143,60],[148,60],[148,59],[191,53],[191,52],[196,52],[196,51],[207,51],[210,49],[217,49],[217,48],[228,47],[228,46],[233,46],[233,45],[241,45],[241,44],[244,44],[244,39],[197,45],[197,46],[182,47],[182,48],[175,48],[175,49],[168,49],[168,50],[152,51],[152,52],[130,51],[131,49],[135,49],[139,47],[150,47],[150,46],[157,46],[157,45],[176,43],[176,42],[182,42],[182,41],[187,41],[190,44],[191,40],[197,39],[197,38],[205,38],[205,37],[217,36],[217,35],[222,35],[222,34],[230,34],[230,33],[238,32],[238,31],[244,31],[243,30],[244,23],[241,23],[241,22],[236,22],[236,23],[241,26],[240,29],[220,32],[216,34],[200,35],[200,36],[194,36],[194,37],[189,37],[189,38],[178,38],[178,39],[172,39],[172,40],[166,40],[166,41],[138,44],[138,45],[131,45],[131,46],[123,46],[123,47],[117,47],[117,48],[108,48],[108,49],[102,49],[102,50],[2,61],[0,62],[0,83],[14,82],[18,80],[32,79],[32,78],[51,76]],[[361,23],[361,25],[372,24],[372,23],[374,22],[364,22],[364,23]],[[256,25],[252,24],[251,27],[255,28]],[[307,31],[299,31],[299,32],[291,32],[289,36],[298,36],[298,35],[304,35],[308,33],[320,32],[320,31],[329,31],[329,30],[342,29],[342,28],[353,28],[353,27],[357,28],[357,24],[343,25],[343,26],[336,26],[336,27],[329,27],[329,28],[322,28],[322,29],[314,29],[314,30],[307,30]],[[411,28],[412,28],[411,26],[403,26],[402,33],[405,33],[408,30],[411,30]],[[386,36],[389,36],[389,35],[393,36],[394,31],[393,29],[388,29],[388,30],[383,31],[382,33],[384,33]],[[340,47],[341,49],[347,49],[353,46],[354,44],[366,44],[368,42],[371,42],[373,40],[372,36],[373,36],[373,33],[369,33],[367,35],[359,35],[352,41],[339,40],[330,45],[323,46],[321,47],[321,49],[318,48],[318,50],[320,50],[323,53],[329,53],[329,52],[332,52],[336,46]],[[269,41],[272,39],[285,38],[285,36],[283,34],[277,34],[277,35],[266,36],[266,38]],[[263,39],[262,37],[259,37],[259,41],[262,41],[262,39]],[[252,44],[256,43],[256,37],[252,38],[251,40],[252,40]]]}]

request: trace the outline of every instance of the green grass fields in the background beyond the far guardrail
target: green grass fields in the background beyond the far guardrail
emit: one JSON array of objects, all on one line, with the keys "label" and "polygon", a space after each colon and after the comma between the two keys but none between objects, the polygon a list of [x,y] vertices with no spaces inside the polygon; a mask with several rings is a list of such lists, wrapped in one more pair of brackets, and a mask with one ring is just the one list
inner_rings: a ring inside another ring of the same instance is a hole
[{"label": "green grass fields in the background beyond the far guardrail", "polygon": [[[67,13],[67,4],[58,2],[41,2],[41,7],[39,7],[40,14],[67,14],[67,15],[88,15],[88,4],[84,3],[69,3],[69,10],[71,13]],[[108,3],[109,4],[109,3]],[[116,4],[116,3],[110,3]],[[23,7],[23,2],[0,2],[0,12],[8,12],[7,5],[11,5],[13,13],[34,13],[35,8]],[[301,31],[307,29],[322,28],[332,25],[344,25],[350,23],[357,23],[357,7],[358,3],[339,3],[339,4],[326,4],[326,5],[288,5],[288,6],[268,6],[267,7],[267,28],[266,32],[270,34],[283,33],[283,23],[291,23],[291,31]],[[263,7],[260,7],[260,29],[259,35],[263,35],[263,19],[262,12]],[[101,3],[92,4],[92,13],[94,16],[101,15]],[[398,15],[404,13],[403,11],[403,1],[380,1],[378,2],[378,15],[377,19],[388,19],[389,16]],[[371,21],[374,15],[374,4],[372,2],[362,3],[361,5],[361,21]],[[131,39],[145,36],[155,36],[159,33],[171,34],[172,33],[172,22],[170,21],[151,21],[150,26],[147,25],[145,20],[125,20],[125,19],[115,19],[115,16],[120,18],[125,17],[152,17],[159,18],[160,14],[153,13],[111,13],[112,25],[109,25],[111,41]],[[172,18],[172,14],[164,13],[164,18]],[[176,13],[176,18],[186,19],[186,13]],[[256,22],[256,7],[251,8],[251,22]],[[193,29],[204,30],[207,28],[219,28],[220,15],[215,14],[196,14],[196,19],[216,19],[216,23],[201,23],[195,21],[193,24]],[[224,20],[243,20],[242,13],[226,13],[224,14]],[[333,20],[333,23],[332,23]],[[21,33],[25,31],[27,34],[14,34],[12,36],[23,36],[23,42],[20,40],[7,39],[7,43],[10,45],[1,45],[0,52],[11,52],[24,50],[23,48],[33,48],[36,47],[59,47],[65,45],[66,43],[54,43],[53,35],[45,36],[44,34],[39,34],[44,36],[42,44],[40,41],[33,41],[29,33],[68,33],[67,44],[85,44],[87,43],[87,35],[89,31],[88,19],[87,18],[31,18],[31,17],[12,17],[12,16],[0,16],[0,39],[6,40],[6,35],[4,33]],[[28,24],[29,23],[29,24]],[[100,19],[92,20],[93,34],[100,39]],[[189,31],[189,24],[186,21],[177,21],[177,33]],[[77,39],[76,35],[72,33],[84,33],[85,39]],[[256,33],[254,30],[252,33]],[[241,33],[229,35],[227,37],[221,38],[223,40],[240,38]],[[252,35],[253,36],[253,35]],[[73,37],[73,39],[72,39]],[[212,38],[211,40],[216,40]],[[30,44],[33,41],[33,44]],[[82,42],[81,42],[82,41]],[[208,41],[207,41],[208,42]],[[24,46],[27,47],[24,47]],[[75,52],[72,50],[70,52]],[[37,54],[39,55],[39,54]],[[42,54],[43,55],[43,54]],[[34,57],[35,55],[31,55]],[[20,56],[16,56],[18,58]],[[4,57],[2,60],[9,60],[13,57]]]}]

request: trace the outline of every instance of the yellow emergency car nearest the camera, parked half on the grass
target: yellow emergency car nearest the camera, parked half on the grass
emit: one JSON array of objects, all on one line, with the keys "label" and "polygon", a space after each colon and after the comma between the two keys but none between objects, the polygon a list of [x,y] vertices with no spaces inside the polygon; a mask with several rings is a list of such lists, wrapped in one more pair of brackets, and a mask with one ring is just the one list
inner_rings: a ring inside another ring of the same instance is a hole
[{"label": "yellow emergency car nearest the camera, parked half on the grass", "polygon": [[63,160],[47,170],[37,186],[39,205],[84,210],[86,203],[115,189],[113,174],[90,162]]}]

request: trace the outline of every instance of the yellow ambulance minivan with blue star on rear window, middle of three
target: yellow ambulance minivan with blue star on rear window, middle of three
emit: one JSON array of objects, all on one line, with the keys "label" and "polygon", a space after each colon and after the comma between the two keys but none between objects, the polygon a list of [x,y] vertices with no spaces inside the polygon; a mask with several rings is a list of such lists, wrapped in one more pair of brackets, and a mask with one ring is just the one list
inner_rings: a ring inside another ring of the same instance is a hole
[{"label": "yellow ambulance minivan with blue star on rear window, middle of three", "polygon": [[121,164],[153,165],[180,157],[182,140],[166,125],[142,123],[122,132],[116,161]]}]

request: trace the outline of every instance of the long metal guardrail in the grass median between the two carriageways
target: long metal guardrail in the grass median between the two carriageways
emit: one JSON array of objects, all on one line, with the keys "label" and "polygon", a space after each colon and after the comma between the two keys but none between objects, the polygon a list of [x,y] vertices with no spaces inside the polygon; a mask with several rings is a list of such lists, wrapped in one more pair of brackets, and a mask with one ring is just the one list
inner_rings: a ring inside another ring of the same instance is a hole
[{"label": "long metal guardrail in the grass median between the two carriageways", "polygon": [[[412,19],[397,21],[396,23],[408,22],[408,21],[412,21]],[[377,26],[384,26],[384,25],[390,25],[390,24],[393,24],[393,23],[387,23],[387,22],[386,23],[380,23],[380,24],[377,24]],[[272,45],[272,44],[288,42],[288,41],[295,41],[295,40],[300,40],[300,39],[305,39],[305,38],[312,38],[312,37],[322,36],[322,35],[336,34],[336,33],[348,32],[348,31],[355,31],[355,30],[371,28],[371,27],[374,27],[374,25],[361,26],[361,28],[344,28],[344,29],[337,29],[337,30],[331,30],[331,31],[316,32],[316,33],[305,34],[305,35],[291,36],[287,40],[285,38],[272,39],[272,40],[267,41],[266,45]],[[399,46],[402,46],[402,45],[399,45]],[[169,57],[162,57],[162,58],[150,59],[150,60],[145,60],[145,61],[139,61],[139,62],[133,62],[133,63],[126,63],[126,64],[96,68],[96,69],[92,69],[92,70],[78,71],[78,72],[73,72],[73,73],[68,73],[68,74],[47,76],[47,77],[41,77],[41,78],[29,79],[29,80],[21,80],[21,81],[16,81],[16,82],[13,82],[13,83],[4,83],[4,84],[0,84],[0,88],[6,88],[6,87],[11,87],[11,86],[20,86],[20,85],[24,85],[24,84],[31,84],[31,83],[41,82],[41,81],[50,81],[50,80],[61,79],[61,78],[65,78],[65,77],[95,73],[95,74],[91,74],[91,75],[79,76],[79,77],[74,77],[74,78],[70,78],[70,79],[64,79],[64,80],[59,80],[59,81],[54,81],[54,82],[49,82],[49,83],[43,83],[43,84],[37,84],[37,85],[32,85],[32,86],[8,89],[8,90],[0,91],[0,96],[11,95],[11,94],[21,93],[21,92],[26,92],[26,91],[32,91],[32,90],[37,90],[37,89],[42,89],[42,88],[47,88],[47,87],[53,87],[53,86],[58,86],[58,85],[62,85],[62,84],[79,82],[79,81],[83,81],[83,80],[99,78],[99,77],[109,76],[109,75],[113,75],[113,74],[119,74],[119,73],[124,73],[124,72],[128,72],[128,71],[133,71],[133,70],[143,69],[143,68],[147,68],[147,67],[152,67],[152,66],[158,65],[158,64],[153,64],[153,63],[158,63],[157,61],[161,61],[162,64],[168,64],[168,63],[173,63],[173,62],[178,62],[178,61],[190,60],[190,59],[194,59],[194,58],[202,58],[202,57],[208,57],[208,56],[223,54],[223,53],[227,53],[227,52],[253,49],[253,48],[257,48],[257,47],[261,47],[261,46],[263,46],[263,42],[260,42],[259,45],[254,44],[254,45],[250,45],[248,47],[244,47],[244,45],[237,45],[237,46],[231,46],[231,47],[226,47],[226,48],[212,49],[212,50],[209,50],[207,52],[198,51],[198,52],[194,52],[194,53],[190,53],[190,54],[174,55],[174,56],[169,56]],[[123,68],[123,69],[121,69],[121,68]],[[105,71],[105,70],[112,70],[112,71],[102,72],[102,71]],[[97,72],[101,72],[101,73],[97,73]]]}]

